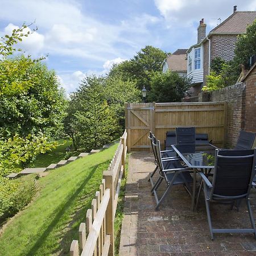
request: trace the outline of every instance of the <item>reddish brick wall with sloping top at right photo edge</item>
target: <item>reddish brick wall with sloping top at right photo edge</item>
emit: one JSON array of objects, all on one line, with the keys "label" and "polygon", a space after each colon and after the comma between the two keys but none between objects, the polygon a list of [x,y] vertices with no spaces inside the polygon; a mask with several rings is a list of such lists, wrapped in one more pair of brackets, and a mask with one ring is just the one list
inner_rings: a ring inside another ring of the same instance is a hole
[{"label": "reddish brick wall with sloping top at right photo edge", "polygon": [[246,77],[245,130],[256,132],[256,66]]}]

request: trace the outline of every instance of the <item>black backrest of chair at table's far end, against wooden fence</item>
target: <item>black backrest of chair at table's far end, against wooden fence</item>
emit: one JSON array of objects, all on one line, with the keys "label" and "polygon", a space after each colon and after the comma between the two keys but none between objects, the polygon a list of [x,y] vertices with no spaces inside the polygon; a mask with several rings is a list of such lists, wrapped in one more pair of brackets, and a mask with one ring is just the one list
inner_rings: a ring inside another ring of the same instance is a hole
[{"label": "black backrest of chair at table's far end, against wooden fence", "polygon": [[176,144],[196,144],[196,128],[176,127]]}]

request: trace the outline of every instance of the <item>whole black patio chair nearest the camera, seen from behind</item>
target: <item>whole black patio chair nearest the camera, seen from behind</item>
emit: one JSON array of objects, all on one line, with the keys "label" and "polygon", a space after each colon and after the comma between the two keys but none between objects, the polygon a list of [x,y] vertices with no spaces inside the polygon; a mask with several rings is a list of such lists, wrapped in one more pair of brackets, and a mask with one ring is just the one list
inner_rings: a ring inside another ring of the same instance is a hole
[{"label": "whole black patio chair nearest the camera, seen from behind", "polygon": [[[210,237],[213,233],[254,233],[256,229],[250,207],[250,189],[255,172],[254,150],[217,150],[215,152],[213,182],[207,179],[203,172],[199,172],[204,183],[205,206],[207,209]],[[246,200],[251,229],[214,229],[210,218],[210,201],[222,204],[234,204],[242,199]]]}]

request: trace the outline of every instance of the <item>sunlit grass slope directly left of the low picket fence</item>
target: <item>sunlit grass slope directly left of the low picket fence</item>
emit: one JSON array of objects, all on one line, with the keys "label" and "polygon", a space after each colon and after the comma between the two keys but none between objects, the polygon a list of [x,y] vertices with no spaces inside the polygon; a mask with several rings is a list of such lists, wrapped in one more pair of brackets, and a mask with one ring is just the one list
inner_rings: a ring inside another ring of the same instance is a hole
[{"label": "sunlit grass slope directly left of the low picket fence", "polygon": [[0,255],[68,255],[116,148],[114,144],[39,179],[36,199],[3,230]]}]

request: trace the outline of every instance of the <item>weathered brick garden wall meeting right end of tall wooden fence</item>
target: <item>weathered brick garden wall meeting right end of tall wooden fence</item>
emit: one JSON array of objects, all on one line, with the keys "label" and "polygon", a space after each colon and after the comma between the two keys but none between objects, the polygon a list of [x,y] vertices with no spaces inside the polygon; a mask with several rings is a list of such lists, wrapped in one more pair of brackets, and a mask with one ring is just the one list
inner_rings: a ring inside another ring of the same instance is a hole
[{"label": "weathered brick garden wall meeting right end of tall wooden fence", "polygon": [[[210,93],[200,93],[199,101],[227,102],[225,147],[236,146],[240,130],[245,125],[245,84],[228,86]],[[213,138],[214,140],[214,138]]]}]

